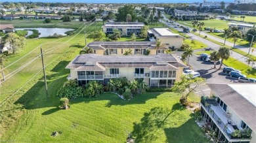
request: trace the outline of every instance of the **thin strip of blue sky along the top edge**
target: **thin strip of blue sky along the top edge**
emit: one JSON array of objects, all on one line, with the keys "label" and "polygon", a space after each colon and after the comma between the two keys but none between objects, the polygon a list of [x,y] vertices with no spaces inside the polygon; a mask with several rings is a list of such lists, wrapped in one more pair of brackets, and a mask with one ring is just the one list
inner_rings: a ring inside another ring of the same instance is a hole
[{"label": "thin strip of blue sky along the top edge", "polygon": [[[1,0],[2,2],[30,2],[30,0]],[[44,3],[202,3],[203,0],[31,0],[32,2]],[[218,1],[218,0],[210,0]],[[219,0],[223,1],[223,0]],[[224,2],[234,2],[234,0],[224,0]]]}]

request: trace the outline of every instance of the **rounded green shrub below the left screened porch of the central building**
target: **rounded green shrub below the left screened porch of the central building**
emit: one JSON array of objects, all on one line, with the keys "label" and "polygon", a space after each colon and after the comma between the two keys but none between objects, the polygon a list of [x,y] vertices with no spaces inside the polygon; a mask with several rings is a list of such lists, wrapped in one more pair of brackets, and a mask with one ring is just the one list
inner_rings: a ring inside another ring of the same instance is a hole
[{"label": "rounded green shrub below the left screened porch of the central building", "polygon": [[97,81],[91,81],[85,86],[85,94],[87,97],[98,97],[104,92],[104,87]]}]

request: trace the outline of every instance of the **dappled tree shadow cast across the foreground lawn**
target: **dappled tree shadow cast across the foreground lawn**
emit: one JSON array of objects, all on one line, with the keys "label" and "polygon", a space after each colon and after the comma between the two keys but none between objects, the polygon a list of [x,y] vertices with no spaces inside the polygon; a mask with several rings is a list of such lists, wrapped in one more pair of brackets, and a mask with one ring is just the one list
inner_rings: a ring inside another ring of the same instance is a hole
[{"label": "dappled tree shadow cast across the foreground lawn", "polygon": [[181,104],[174,104],[171,109],[155,107],[144,114],[140,123],[133,123],[133,132],[131,133],[136,142],[154,142],[158,139],[161,129],[169,123],[169,116],[176,110],[184,110]]}]

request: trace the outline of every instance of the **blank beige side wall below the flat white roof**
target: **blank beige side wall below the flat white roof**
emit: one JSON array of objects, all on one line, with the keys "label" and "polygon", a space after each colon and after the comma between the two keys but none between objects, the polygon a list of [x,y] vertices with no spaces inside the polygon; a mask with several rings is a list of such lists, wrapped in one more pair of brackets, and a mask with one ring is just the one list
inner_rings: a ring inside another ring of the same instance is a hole
[{"label": "blank beige side wall below the flat white roof", "polygon": [[182,37],[179,37],[179,38],[156,37],[156,39],[159,39],[162,44],[169,44],[169,47],[171,47],[171,48],[174,46],[175,49],[181,48],[181,46],[183,44]]}]

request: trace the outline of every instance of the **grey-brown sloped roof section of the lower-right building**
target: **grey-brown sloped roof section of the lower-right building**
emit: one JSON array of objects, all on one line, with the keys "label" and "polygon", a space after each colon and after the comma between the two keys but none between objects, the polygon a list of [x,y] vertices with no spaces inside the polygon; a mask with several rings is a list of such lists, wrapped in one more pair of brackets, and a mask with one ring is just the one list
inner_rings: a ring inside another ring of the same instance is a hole
[{"label": "grey-brown sloped roof section of the lower-right building", "polygon": [[[256,106],[240,95],[234,88],[228,84],[207,84],[218,97],[250,127],[256,132]],[[255,88],[256,89],[256,84]],[[247,86],[247,84],[244,84]],[[251,91],[251,94],[255,91]]]}]

